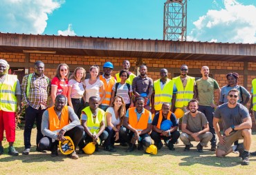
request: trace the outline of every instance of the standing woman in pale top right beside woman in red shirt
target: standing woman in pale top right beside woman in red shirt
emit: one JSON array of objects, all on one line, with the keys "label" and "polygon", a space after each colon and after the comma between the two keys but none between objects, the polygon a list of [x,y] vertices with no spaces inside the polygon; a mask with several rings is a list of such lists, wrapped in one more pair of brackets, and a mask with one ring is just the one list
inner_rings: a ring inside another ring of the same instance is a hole
[{"label": "standing woman in pale top right beside woman in red shirt", "polygon": [[68,105],[73,107],[75,114],[80,119],[82,110],[84,109],[84,79],[85,70],[77,67],[68,81]]}]

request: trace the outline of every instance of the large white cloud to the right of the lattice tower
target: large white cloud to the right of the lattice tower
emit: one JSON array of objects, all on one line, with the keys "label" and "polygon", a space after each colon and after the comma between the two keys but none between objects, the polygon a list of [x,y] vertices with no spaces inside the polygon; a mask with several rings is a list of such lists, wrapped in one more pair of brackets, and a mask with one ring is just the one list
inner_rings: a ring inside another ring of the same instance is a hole
[{"label": "large white cloud to the right of the lattice tower", "polygon": [[224,0],[224,8],[208,10],[194,21],[188,41],[256,43],[256,7]]}]

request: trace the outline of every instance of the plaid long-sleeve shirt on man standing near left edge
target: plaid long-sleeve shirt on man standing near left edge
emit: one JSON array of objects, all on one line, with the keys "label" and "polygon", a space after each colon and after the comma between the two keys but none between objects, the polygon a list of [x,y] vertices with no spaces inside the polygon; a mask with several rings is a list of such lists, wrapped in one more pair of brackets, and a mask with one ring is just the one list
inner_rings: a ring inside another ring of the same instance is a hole
[{"label": "plaid long-sleeve shirt on man standing near left edge", "polygon": [[41,77],[38,77],[34,72],[30,81],[30,90],[28,96],[26,96],[28,75],[24,76],[21,83],[22,102],[25,105],[30,105],[34,109],[38,110],[39,107],[41,107],[41,109],[44,110],[47,108],[47,99],[51,94],[50,80],[44,74]]}]

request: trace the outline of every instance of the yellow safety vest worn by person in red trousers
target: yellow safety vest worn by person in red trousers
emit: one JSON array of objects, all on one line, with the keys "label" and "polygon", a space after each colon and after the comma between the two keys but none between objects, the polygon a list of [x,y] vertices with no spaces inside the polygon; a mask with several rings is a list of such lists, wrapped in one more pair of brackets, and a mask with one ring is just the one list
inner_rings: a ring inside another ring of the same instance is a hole
[{"label": "yellow safety vest worn by person in red trousers", "polygon": [[17,98],[15,89],[17,80],[17,75],[6,74],[6,79],[0,84],[0,110],[16,112]]}]

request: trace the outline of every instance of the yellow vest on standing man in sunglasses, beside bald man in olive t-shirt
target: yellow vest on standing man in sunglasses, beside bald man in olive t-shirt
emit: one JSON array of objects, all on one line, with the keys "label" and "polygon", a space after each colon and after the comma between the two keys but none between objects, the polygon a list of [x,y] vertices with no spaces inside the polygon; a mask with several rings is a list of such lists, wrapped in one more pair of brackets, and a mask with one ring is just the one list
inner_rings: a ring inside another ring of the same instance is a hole
[{"label": "yellow vest on standing man in sunglasses, beside bald man in olive t-shirt", "polygon": [[172,80],[174,81],[178,91],[176,93],[175,107],[187,106],[188,102],[190,102],[190,100],[193,99],[194,95],[194,77],[188,76],[188,81],[187,85],[185,86],[185,90],[181,82],[181,76],[177,76]]}]

